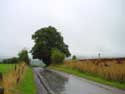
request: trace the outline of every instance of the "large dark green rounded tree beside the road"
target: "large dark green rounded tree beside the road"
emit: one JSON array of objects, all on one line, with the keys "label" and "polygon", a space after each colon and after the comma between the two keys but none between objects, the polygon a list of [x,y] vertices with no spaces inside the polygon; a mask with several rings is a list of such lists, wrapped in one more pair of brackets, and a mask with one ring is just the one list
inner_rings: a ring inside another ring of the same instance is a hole
[{"label": "large dark green rounded tree beside the road", "polygon": [[52,26],[37,30],[32,35],[32,39],[35,42],[31,50],[33,58],[43,60],[47,66],[51,64],[51,50],[53,48],[64,53],[66,57],[70,56],[68,45],[64,43],[60,32],[57,32],[56,28]]}]

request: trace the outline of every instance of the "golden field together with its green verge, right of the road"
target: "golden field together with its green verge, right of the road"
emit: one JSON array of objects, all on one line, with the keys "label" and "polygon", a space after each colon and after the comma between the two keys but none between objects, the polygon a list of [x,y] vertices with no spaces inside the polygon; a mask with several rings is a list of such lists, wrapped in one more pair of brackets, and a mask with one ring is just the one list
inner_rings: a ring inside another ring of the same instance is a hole
[{"label": "golden field together with its green verge, right of the road", "polygon": [[125,89],[125,59],[69,60],[51,68]]}]

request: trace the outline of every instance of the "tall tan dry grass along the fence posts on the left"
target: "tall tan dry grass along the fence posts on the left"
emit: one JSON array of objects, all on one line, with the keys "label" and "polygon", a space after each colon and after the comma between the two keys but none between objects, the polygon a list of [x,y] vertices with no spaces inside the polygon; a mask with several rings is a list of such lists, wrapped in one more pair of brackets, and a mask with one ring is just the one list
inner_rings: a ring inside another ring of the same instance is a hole
[{"label": "tall tan dry grass along the fence posts on the left", "polygon": [[15,87],[23,77],[23,71],[26,69],[25,63],[17,64],[15,69],[4,75],[3,87],[5,94],[17,94]]}]

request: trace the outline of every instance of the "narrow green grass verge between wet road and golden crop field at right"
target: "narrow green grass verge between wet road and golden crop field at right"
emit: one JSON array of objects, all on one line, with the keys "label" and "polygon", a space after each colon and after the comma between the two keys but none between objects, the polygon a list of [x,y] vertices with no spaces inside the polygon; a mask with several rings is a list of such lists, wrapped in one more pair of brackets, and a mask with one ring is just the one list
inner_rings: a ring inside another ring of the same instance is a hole
[{"label": "narrow green grass verge between wet road and golden crop field at right", "polygon": [[95,82],[99,82],[99,83],[102,83],[102,84],[110,85],[110,86],[113,86],[113,87],[116,87],[116,88],[119,88],[119,89],[125,89],[125,83],[108,81],[108,80],[105,80],[105,79],[103,79],[99,76],[95,76],[95,75],[92,75],[92,74],[89,74],[89,73],[83,73],[83,72],[80,72],[79,70],[68,68],[64,65],[52,65],[49,68],[55,69],[55,70],[58,70],[58,71],[62,71],[62,72],[66,72],[66,73],[69,73],[69,74],[73,74],[73,75],[76,75],[76,76],[79,76],[79,77],[82,77],[82,78],[86,78],[88,80],[92,80],[92,81],[95,81]]}]

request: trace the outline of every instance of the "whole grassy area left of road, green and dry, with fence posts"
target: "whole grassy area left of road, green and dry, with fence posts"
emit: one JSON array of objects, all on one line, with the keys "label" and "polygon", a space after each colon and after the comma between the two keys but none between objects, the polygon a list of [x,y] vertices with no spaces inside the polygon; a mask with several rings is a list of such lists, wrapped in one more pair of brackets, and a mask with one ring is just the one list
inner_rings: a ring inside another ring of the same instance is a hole
[{"label": "whole grassy area left of road, green and dry, with fence posts", "polygon": [[3,80],[0,81],[5,94],[36,94],[33,72],[24,62],[0,64]]}]

